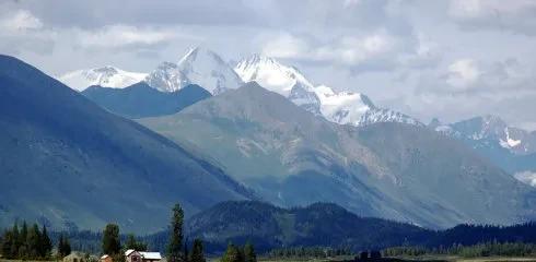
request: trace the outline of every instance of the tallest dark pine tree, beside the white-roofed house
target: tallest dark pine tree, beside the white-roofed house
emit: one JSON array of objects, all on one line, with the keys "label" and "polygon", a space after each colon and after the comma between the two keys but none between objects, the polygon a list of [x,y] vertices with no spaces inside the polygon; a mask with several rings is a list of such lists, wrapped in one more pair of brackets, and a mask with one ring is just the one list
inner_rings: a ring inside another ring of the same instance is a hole
[{"label": "tallest dark pine tree, beside the white-roofed house", "polygon": [[170,242],[167,243],[167,260],[170,262],[179,262],[183,260],[183,223],[184,212],[179,204],[173,207],[171,224]]}]

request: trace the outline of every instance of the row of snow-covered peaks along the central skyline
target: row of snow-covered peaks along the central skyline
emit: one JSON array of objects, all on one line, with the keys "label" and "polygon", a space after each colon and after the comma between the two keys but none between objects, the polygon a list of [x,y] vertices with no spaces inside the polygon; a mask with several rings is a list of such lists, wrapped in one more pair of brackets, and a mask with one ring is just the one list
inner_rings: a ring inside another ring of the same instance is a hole
[{"label": "row of snow-covered peaks along the central skyline", "polygon": [[[84,87],[79,83],[124,88],[133,83],[117,80],[131,80],[131,75],[139,75],[138,81],[144,81],[149,86],[161,92],[175,92],[189,84],[197,84],[212,95],[255,81],[307,111],[336,123],[364,126],[374,122],[405,122],[423,126],[417,119],[401,112],[376,107],[363,94],[335,92],[326,85],[314,85],[296,68],[259,55],[243,59],[233,68],[215,52],[197,47],[188,50],[177,63],[162,62],[148,74],[109,69],[110,67],[78,70],[60,76],[59,80],[78,91],[84,91],[90,85]],[[86,81],[81,81],[84,78]],[[95,79],[98,81],[94,81]]]}]

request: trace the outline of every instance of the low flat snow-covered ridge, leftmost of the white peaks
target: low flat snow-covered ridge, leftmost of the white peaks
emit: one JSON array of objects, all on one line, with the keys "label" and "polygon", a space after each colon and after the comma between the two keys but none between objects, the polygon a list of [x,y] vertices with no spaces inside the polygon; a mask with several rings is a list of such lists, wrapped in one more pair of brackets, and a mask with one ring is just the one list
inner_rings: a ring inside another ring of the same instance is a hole
[{"label": "low flat snow-covered ridge, leftmost of the white peaks", "polygon": [[143,81],[145,76],[147,73],[128,72],[106,66],[103,68],[72,71],[59,76],[58,80],[67,86],[81,92],[91,85],[124,88]]}]

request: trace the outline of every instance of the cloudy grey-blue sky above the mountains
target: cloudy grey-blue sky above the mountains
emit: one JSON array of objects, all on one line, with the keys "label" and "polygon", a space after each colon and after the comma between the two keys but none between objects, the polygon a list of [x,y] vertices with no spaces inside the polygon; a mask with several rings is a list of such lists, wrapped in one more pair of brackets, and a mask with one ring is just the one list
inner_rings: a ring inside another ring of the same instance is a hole
[{"label": "cloudy grey-blue sky above the mountains", "polygon": [[423,122],[496,115],[536,130],[532,0],[4,0],[0,53],[40,70],[150,72],[202,46],[252,53]]}]

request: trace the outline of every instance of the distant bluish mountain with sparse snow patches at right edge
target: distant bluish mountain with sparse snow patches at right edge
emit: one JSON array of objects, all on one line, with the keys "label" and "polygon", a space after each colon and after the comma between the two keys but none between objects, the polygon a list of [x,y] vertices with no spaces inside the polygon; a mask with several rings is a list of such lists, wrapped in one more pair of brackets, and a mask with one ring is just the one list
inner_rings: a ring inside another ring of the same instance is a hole
[{"label": "distant bluish mountain with sparse snow patches at right edge", "polygon": [[509,127],[497,116],[475,117],[451,124],[435,120],[429,127],[458,139],[480,142],[479,146],[494,143],[517,155],[536,153],[535,132]]}]

